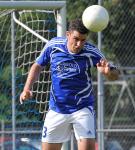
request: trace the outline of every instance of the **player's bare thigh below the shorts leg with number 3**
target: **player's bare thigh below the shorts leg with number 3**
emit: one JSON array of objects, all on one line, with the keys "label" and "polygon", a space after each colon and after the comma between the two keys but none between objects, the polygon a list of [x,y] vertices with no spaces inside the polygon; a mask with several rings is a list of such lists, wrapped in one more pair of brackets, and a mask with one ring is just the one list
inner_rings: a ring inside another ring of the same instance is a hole
[{"label": "player's bare thigh below the shorts leg with number 3", "polygon": [[46,143],[42,142],[42,150],[61,150],[61,143]]}]

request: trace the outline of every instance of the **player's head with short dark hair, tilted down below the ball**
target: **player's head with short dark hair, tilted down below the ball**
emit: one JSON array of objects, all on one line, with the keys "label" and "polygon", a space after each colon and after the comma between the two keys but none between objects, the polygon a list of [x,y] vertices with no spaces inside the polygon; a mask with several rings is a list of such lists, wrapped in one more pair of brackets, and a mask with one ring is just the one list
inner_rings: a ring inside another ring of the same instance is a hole
[{"label": "player's head with short dark hair, tilted down below the ball", "polygon": [[86,42],[88,32],[89,30],[85,28],[81,19],[72,20],[66,33],[68,50],[79,53]]}]

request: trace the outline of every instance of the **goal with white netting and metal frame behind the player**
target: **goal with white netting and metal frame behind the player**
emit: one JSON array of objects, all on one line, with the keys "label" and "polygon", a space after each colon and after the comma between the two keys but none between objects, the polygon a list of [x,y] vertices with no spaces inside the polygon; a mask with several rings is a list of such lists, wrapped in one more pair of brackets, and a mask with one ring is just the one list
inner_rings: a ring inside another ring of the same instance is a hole
[{"label": "goal with white netting and metal frame behind the player", "polygon": [[65,34],[65,3],[50,1],[48,9],[47,5],[44,6],[45,9],[39,9],[43,7],[43,2],[32,7],[33,3],[35,2],[29,4],[29,9],[26,10],[26,2],[23,3],[24,6],[19,3],[3,6],[3,3],[0,3],[0,118],[3,120],[1,135],[12,133],[13,124],[14,132],[18,135],[25,133],[24,137],[36,131],[41,133],[43,118],[48,110],[51,84],[49,65],[33,85],[33,98],[21,105],[19,96],[30,67],[45,44],[51,38]]}]

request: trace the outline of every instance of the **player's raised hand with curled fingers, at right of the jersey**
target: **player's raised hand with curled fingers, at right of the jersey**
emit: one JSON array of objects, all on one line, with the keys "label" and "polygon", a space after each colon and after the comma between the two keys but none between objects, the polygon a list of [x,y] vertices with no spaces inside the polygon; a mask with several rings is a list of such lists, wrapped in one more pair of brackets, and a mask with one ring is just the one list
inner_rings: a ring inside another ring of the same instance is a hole
[{"label": "player's raised hand with curled fingers, at right of the jersey", "polygon": [[110,72],[109,62],[105,59],[101,59],[100,62],[97,63],[97,69],[104,75],[108,74]]}]

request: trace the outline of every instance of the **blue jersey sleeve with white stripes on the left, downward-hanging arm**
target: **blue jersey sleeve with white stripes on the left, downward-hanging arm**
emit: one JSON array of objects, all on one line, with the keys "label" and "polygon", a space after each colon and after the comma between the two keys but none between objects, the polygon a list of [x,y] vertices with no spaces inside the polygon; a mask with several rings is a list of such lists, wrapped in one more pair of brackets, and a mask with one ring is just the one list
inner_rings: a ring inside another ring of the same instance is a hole
[{"label": "blue jersey sleeve with white stripes on the left, downward-hanging arm", "polygon": [[41,51],[40,55],[36,59],[36,63],[45,66],[50,62],[50,53],[51,53],[51,46],[49,46],[49,42],[45,45],[43,50]]}]

